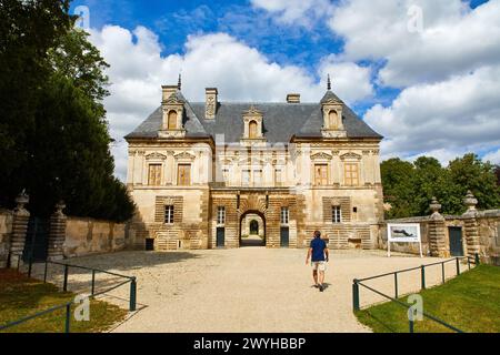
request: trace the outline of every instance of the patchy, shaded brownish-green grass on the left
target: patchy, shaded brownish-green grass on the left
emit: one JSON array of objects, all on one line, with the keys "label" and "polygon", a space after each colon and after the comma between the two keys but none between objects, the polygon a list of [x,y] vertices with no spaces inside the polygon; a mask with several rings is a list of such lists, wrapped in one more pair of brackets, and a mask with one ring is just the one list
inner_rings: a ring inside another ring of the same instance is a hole
[{"label": "patchy, shaded brownish-green grass on the left", "polygon": [[[74,300],[76,294],[60,292],[52,284],[10,270],[0,270],[0,325],[33,315]],[[77,305],[76,305],[77,306]],[[72,313],[74,307],[72,307]],[[72,333],[100,333],[124,320],[127,311],[102,301],[90,302],[90,322],[71,320]],[[28,321],[3,333],[62,333],[64,332],[66,310]],[[2,332],[0,332],[2,333]]]}]

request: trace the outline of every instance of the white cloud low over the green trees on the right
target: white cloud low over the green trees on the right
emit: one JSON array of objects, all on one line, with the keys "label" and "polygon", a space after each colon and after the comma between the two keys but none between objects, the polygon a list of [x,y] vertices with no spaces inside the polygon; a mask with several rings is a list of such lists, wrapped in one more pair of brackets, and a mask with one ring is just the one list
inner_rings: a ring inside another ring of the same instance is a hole
[{"label": "white cloud low over the green trees on the right", "polygon": [[374,105],[364,120],[387,136],[390,156],[437,154],[441,160],[500,142],[500,65],[448,81],[408,88],[391,106]]}]

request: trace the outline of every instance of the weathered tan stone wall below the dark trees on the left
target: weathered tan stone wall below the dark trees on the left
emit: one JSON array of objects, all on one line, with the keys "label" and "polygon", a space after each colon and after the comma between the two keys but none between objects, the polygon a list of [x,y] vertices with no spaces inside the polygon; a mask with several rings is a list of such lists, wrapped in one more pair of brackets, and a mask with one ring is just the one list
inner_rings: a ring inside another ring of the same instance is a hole
[{"label": "weathered tan stone wall below the dark trees on the left", "polygon": [[126,224],[91,219],[68,217],[64,257],[112,253],[127,247]]}]

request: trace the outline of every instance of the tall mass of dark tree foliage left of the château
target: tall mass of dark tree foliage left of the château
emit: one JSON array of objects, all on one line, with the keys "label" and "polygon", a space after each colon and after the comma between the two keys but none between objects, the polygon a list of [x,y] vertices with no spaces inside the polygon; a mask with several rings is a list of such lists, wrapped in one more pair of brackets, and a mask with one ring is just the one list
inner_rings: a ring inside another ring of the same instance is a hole
[{"label": "tall mass of dark tree foliage left of the ch\u00e2teau", "polygon": [[37,215],[64,200],[70,215],[130,219],[102,104],[108,64],[73,28],[68,1],[0,1],[0,19],[10,21],[0,24],[0,203],[11,206],[27,189]]}]

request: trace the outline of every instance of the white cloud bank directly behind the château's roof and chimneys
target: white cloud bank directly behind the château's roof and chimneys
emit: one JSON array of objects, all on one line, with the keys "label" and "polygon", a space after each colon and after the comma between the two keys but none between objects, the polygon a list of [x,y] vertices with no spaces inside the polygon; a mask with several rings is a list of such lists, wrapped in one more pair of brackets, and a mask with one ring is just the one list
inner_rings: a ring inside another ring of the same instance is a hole
[{"label": "white cloud bank directly behind the ch\u00e2teau's roof and chimneys", "polygon": [[258,50],[224,33],[190,36],[184,54],[161,55],[158,37],[146,28],[133,32],[120,27],[91,31],[91,41],[111,65],[111,95],[106,99],[110,131],[117,140],[113,154],[117,175],[124,180],[127,143],[131,132],[161,100],[161,85],[177,83],[182,71],[182,92],[190,101],[203,101],[204,88],[217,87],[222,101],[284,102],[287,93],[299,92],[303,101],[319,102],[326,91],[326,73],[336,93],[348,103],[372,94],[370,68],[327,58],[319,68],[324,80],[293,65],[270,62]]}]

